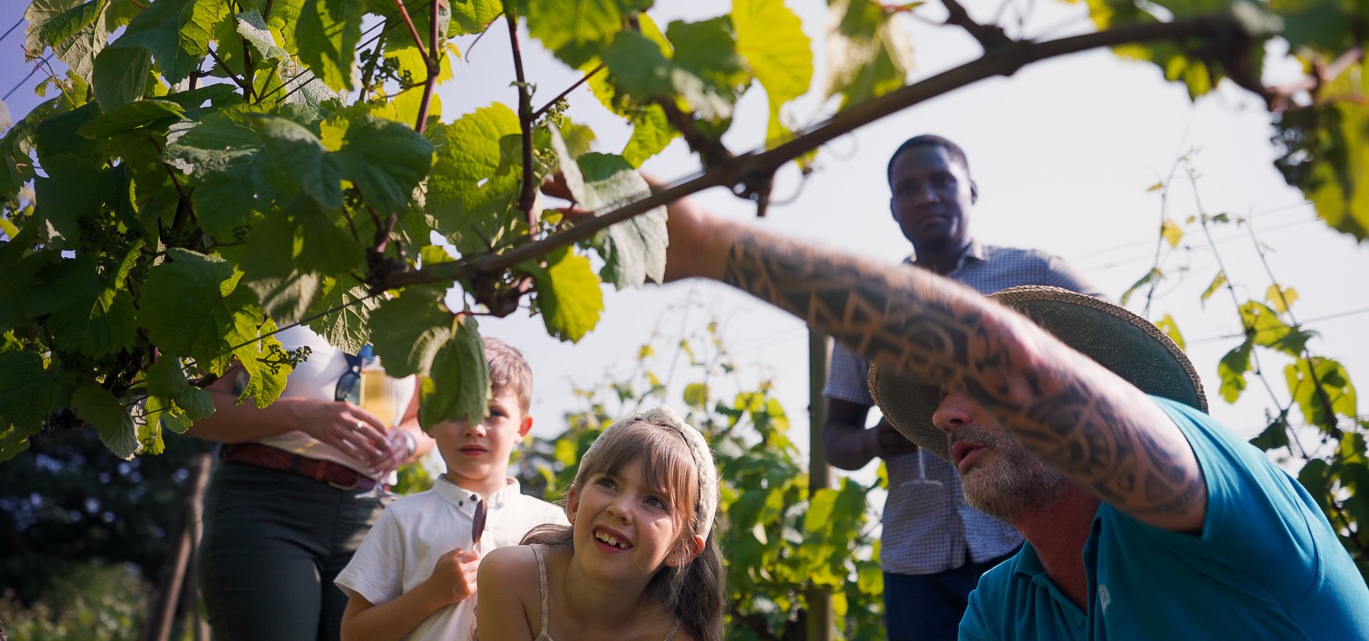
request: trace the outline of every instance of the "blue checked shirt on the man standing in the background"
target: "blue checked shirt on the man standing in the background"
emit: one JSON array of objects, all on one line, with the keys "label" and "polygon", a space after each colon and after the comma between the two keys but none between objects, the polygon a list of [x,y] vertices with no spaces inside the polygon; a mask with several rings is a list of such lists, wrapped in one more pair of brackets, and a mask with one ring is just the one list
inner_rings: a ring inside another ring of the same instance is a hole
[{"label": "blue checked shirt on the man standing in the background", "polygon": [[[905,261],[908,262],[908,261]],[[910,262],[908,262],[910,264]],[[1065,261],[1038,250],[971,243],[947,277],[980,294],[1021,284],[1049,284],[1098,297]],[[873,406],[869,361],[838,344],[823,395]],[[1010,525],[965,504],[960,474],[934,454],[919,451],[884,461],[888,496],[879,562],[894,574],[935,574],[960,567],[965,549],[976,563],[1002,556],[1021,543]],[[941,485],[921,480],[941,481]]]}]

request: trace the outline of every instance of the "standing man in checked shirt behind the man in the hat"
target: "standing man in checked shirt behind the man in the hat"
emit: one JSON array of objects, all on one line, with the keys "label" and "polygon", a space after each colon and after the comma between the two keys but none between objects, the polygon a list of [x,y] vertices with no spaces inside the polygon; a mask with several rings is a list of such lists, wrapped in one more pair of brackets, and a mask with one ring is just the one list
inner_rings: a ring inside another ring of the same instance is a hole
[{"label": "standing man in checked shirt behind the man in the hat", "polygon": [[[983,294],[1012,286],[1090,287],[1060,258],[1042,251],[975,242],[969,212],[979,190],[965,153],[936,135],[904,142],[888,163],[888,209],[912,243],[905,265],[958,280]],[[891,641],[954,640],[969,592],[986,570],[1021,544],[1008,523],[965,504],[960,477],[945,461],[919,451],[886,420],[867,429],[869,362],[838,344],[823,395],[828,461],[857,470],[884,459],[880,564]],[[930,425],[928,425],[930,426]]]}]

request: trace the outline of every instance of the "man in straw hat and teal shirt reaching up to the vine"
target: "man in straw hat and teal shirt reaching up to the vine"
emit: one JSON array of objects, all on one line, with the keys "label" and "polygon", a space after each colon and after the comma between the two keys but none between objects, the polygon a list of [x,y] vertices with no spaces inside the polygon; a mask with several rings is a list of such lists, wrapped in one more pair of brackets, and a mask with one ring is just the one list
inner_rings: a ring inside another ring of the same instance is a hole
[{"label": "man in straw hat and teal shirt reaching up to the vine", "polygon": [[1027,538],[980,579],[961,638],[1369,638],[1369,588],[1327,518],[1202,411],[1192,366],[1143,318],[668,209],[667,277],[734,286],[871,359],[893,425]]}]

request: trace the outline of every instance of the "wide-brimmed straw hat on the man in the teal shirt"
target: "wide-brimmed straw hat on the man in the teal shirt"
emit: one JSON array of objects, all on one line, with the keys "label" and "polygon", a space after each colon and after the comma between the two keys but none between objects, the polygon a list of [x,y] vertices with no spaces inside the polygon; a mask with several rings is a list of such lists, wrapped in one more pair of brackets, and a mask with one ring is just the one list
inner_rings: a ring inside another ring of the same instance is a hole
[{"label": "wide-brimmed straw hat on the man in the teal shirt", "polygon": [[[993,298],[1140,391],[1207,411],[1188,357],[1153,323],[1098,298],[1060,287],[1009,287]],[[919,447],[950,461],[946,433],[932,425],[941,381],[869,368],[869,392],[884,418]]]}]

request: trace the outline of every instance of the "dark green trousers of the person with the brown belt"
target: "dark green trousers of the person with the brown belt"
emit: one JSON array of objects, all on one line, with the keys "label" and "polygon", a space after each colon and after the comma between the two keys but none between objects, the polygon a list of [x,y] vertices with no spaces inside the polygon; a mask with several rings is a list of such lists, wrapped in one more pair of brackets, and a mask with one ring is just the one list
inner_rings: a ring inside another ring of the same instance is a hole
[{"label": "dark green trousers of the person with the brown belt", "polygon": [[335,641],[346,596],[333,579],[381,515],[290,472],[219,463],[205,492],[200,593],[215,641]]}]

